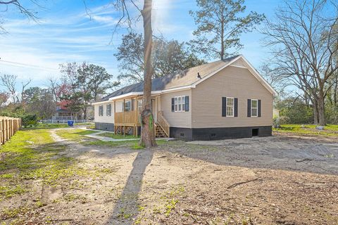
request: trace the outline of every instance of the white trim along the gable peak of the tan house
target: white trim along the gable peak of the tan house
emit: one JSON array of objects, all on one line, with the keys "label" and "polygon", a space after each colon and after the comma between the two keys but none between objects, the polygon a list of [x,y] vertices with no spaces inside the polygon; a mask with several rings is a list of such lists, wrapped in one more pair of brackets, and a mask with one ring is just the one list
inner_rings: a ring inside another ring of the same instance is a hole
[{"label": "white trim along the gable peak of the tan house", "polygon": [[[245,68],[247,70],[249,70],[251,72],[251,74],[256,77],[256,79],[258,79],[258,82],[260,82],[261,84],[263,84],[263,86],[265,87],[265,89],[268,89],[268,91],[270,91],[271,94],[273,95],[277,95],[277,91],[275,91],[275,89],[273,89],[273,87],[266,82],[266,80],[257,72],[257,70],[255,68],[253,68],[253,66],[248,62],[248,60],[246,60],[246,58],[244,58],[244,56],[240,55],[236,58],[234,58],[233,60],[231,60],[229,63],[223,65],[223,67],[218,68],[217,70],[215,70],[214,72],[211,72],[210,74],[206,75],[205,77],[203,77],[202,79],[200,79],[197,82],[194,82],[192,84],[192,88],[196,88],[196,85],[204,82],[204,80],[208,79],[209,77],[212,77],[213,75],[215,75],[216,73],[220,72],[220,70],[223,70],[224,68],[227,68],[227,66],[231,65],[232,63],[234,63],[235,61],[239,60],[239,58],[242,58],[244,60],[244,63],[246,63],[246,65],[249,66],[249,68]],[[231,65],[237,68],[244,68],[242,66],[239,65]]]}]

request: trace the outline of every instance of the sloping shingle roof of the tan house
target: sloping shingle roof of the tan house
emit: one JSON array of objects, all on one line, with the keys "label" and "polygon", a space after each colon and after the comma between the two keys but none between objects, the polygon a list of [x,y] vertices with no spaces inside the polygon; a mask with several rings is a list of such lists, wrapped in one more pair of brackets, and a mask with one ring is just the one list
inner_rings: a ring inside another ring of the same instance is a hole
[{"label": "sloping shingle roof of the tan house", "polygon": [[[226,65],[231,60],[237,57],[238,56],[232,56],[230,58],[225,58],[224,60],[218,60],[213,63],[206,63],[204,65],[195,66],[194,68],[182,70],[177,74],[166,75],[164,77],[151,79],[151,91],[162,91],[165,89],[173,89],[175,87],[194,84],[194,82],[200,79],[199,77],[197,77],[198,72],[201,78],[203,78],[206,75],[210,74],[211,72],[214,72],[219,68],[222,68],[224,65]],[[121,89],[118,89],[117,91],[114,91],[112,94],[108,94],[108,96],[101,98],[100,101],[108,101],[109,98],[113,98],[115,96],[140,91],[143,91],[143,82],[132,84],[129,86],[125,86]]]}]

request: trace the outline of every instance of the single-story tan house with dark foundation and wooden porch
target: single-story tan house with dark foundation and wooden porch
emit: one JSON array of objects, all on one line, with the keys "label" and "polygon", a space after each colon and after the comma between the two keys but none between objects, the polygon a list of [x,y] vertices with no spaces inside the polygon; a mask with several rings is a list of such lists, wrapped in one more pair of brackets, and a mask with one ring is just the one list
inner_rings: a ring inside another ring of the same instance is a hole
[{"label": "single-story tan house with dark foundation and wooden porch", "polygon": [[[140,132],[143,83],[94,103],[96,129]],[[270,136],[276,91],[244,56],[152,79],[156,136],[211,140]]]}]

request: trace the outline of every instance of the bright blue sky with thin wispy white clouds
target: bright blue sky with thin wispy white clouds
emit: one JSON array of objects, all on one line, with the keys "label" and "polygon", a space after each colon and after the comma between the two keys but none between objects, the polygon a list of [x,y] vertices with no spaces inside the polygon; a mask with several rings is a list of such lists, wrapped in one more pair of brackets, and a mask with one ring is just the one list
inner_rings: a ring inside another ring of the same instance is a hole
[{"label": "bright blue sky with thin wispy white clouds", "polygon": [[[137,1],[142,8],[142,0]],[[32,79],[30,86],[43,87],[49,85],[49,78],[61,77],[61,63],[86,61],[103,66],[116,79],[118,62],[113,54],[127,29],[120,27],[113,34],[120,15],[109,0],[86,0],[87,7],[83,0],[40,0],[42,7],[30,0],[21,2],[36,11],[38,19],[29,20],[16,8],[6,11],[0,6],[0,22],[6,30],[6,34],[0,34],[0,74],[18,75],[18,85]],[[279,2],[246,0],[246,12],[264,13],[273,19]],[[134,6],[128,7],[132,15],[137,15]],[[153,0],[154,34],[189,41],[196,28],[189,11],[196,9],[194,0]],[[134,31],[142,33],[142,20],[136,23]],[[269,57],[262,38],[258,30],[241,37],[244,49],[239,53],[256,68]]]}]

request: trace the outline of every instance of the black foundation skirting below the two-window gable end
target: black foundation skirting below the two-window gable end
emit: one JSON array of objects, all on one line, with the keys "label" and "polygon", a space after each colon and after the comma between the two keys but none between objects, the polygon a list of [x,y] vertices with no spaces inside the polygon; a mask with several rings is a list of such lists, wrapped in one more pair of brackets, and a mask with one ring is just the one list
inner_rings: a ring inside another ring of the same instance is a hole
[{"label": "black foundation skirting below the two-window gable end", "polygon": [[209,127],[184,128],[170,127],[170,137],[187,141],[208,141],[220,139],[249,138],[252,136],[271,136],[272,126],[261,127]]}]

